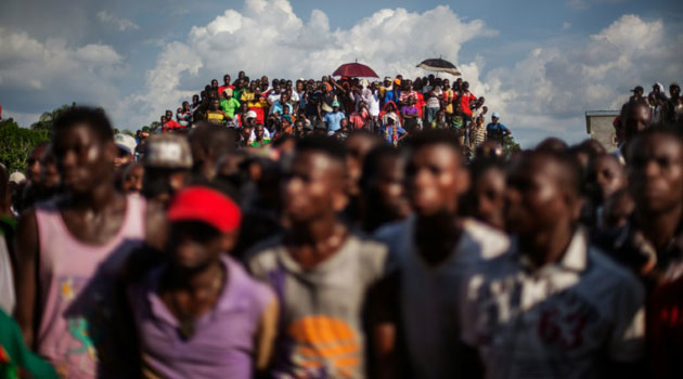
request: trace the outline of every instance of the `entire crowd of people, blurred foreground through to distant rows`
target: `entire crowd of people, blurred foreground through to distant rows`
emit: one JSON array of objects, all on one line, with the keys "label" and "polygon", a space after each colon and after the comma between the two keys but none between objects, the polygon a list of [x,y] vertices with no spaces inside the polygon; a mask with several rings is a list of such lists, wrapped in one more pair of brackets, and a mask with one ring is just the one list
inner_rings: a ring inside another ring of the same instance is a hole
[{"label": "entire crowd of people, blurred foreground through to distant rows", "polygon": [[[256,95],[243,78],[223,103]],[[0,169],[0,373],[681,378],[679,92],[635,91],[616,152],[484,139],[472,156],[441,97],[422,130],[413,110],[359,115],[353,91],[324,115],[285,92],[256,117],[193,104],[141,141],[72,107],[25,178]],[[326,125],[286,133],[287,115]],[[376,133],[397,122],[400,143]]]}]

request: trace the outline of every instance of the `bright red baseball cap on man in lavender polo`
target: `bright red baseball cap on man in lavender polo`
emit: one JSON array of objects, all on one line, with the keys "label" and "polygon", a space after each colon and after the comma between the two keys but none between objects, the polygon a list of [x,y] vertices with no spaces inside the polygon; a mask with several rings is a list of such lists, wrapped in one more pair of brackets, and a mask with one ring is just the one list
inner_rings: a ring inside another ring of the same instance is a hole
[{"label": "bright red baseball cap on man in lavender polo", "polygon": [[166,215],[171,222],[204,222],[221,233],[236,230],[242,220],[240,207],[230,197],[219,191],[198,185],[180,191],[170,201]]}]

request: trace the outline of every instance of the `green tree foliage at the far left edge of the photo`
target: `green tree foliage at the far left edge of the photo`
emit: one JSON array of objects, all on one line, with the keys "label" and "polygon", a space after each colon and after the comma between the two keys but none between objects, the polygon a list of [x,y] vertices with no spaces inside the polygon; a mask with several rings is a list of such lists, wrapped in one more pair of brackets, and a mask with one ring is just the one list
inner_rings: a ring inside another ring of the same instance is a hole
[{"label": "green tree foliage at the far left edge of the photo", "polygon": [[0,121],[0,162],[9,172],[26,170],[26,159],[30,151],[49,140],[47,129],[20,128],[13,119]]}]

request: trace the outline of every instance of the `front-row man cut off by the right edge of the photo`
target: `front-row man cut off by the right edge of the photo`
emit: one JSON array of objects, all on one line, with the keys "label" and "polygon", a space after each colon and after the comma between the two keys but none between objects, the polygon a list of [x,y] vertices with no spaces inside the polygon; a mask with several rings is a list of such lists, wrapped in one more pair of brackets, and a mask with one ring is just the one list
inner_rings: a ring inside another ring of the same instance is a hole
[{"label": "front-row man cut off by the right edge of the photo", "polygon": [[680,132],[647,129],[627,149],[629,191],[635,201],[628,235],[615,257],[649,289],[683,275],[683,140]]}]

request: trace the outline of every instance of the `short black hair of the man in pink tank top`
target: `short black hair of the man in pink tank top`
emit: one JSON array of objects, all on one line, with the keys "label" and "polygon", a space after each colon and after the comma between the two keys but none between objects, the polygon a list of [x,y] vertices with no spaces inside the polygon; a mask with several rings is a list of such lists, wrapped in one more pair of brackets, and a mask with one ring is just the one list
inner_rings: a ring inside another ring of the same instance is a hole
[{"label": "short black hair of the man in pink tank top", "polygon": [[52,125],[54,141],[62,132],[77,123],[85,123],[101,142],[114,140],[112,122],[102,108],[72,106],[62,112]]}]

